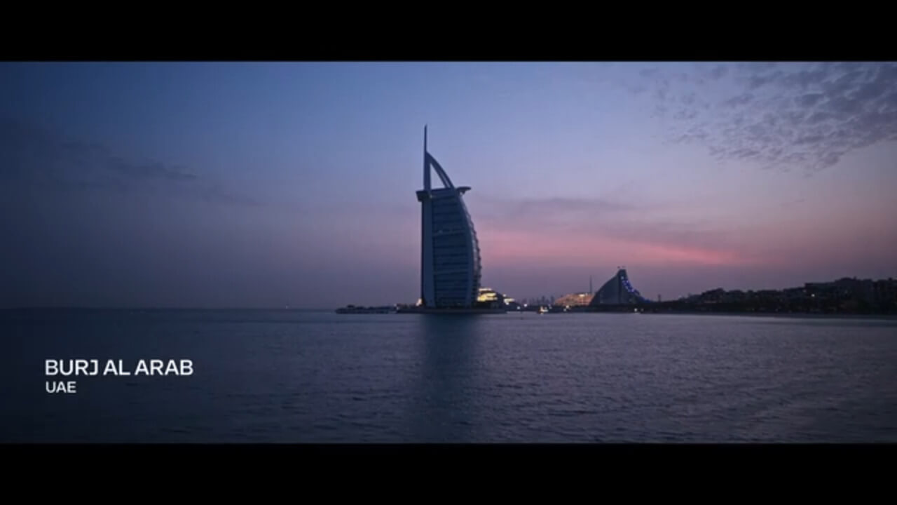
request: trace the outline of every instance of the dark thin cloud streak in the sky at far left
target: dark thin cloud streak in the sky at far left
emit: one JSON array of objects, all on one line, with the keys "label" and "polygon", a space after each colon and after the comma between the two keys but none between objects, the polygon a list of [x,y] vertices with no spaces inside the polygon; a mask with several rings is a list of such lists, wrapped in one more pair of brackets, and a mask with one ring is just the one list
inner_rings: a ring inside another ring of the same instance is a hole
[{"label": "dark thin cloud streak in the sky at far left", "polygon": [[183,166],[136,161],[107,146],[9,119],[0,119],[0,180],[23,188],[158,191],[224,205],[260,205]]}]

